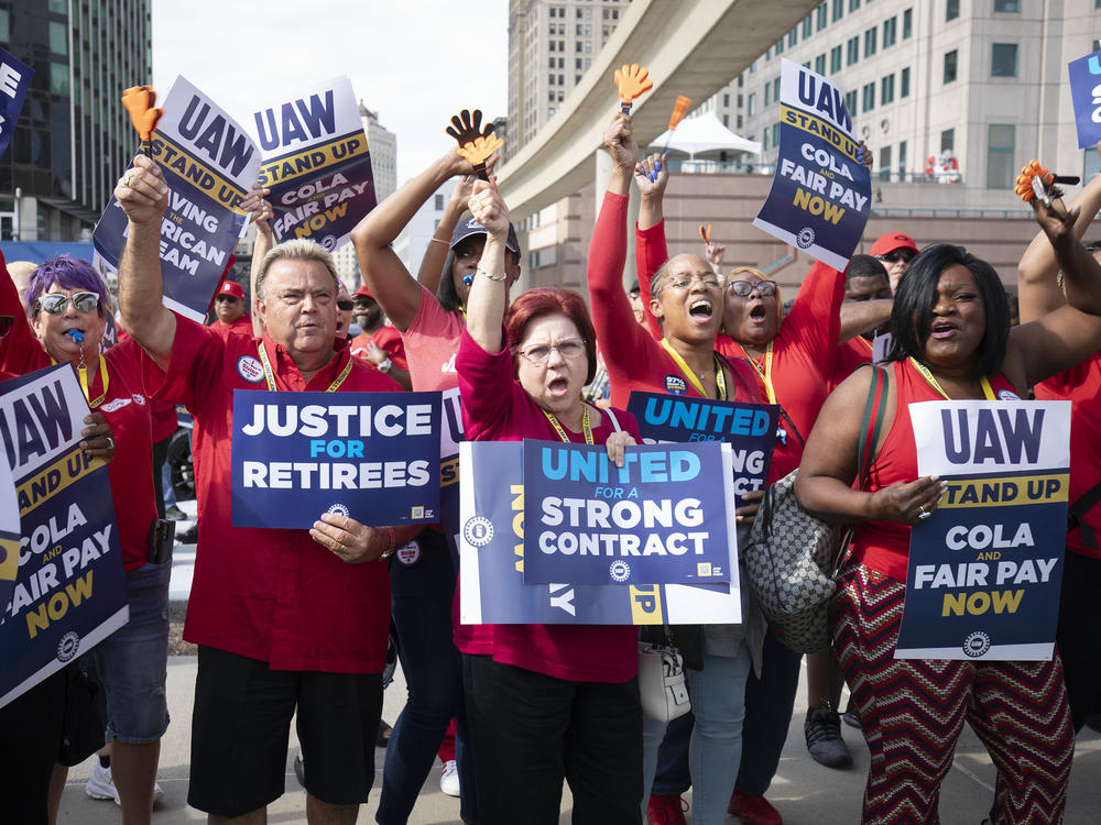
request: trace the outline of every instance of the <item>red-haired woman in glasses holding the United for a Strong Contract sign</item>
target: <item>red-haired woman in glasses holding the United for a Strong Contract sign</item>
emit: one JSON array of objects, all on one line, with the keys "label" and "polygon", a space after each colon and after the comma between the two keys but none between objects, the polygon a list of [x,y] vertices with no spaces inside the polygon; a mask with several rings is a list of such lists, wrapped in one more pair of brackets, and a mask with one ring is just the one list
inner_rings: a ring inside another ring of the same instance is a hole
[{"label": "red-haired woman in glasses holding the United for a Strong Contract sign", "polygon": [[[478,184],[470,211],[489,234],[456,359],[467,438],[606,444],[622,466],[624,447],[640,440],[634,418],[580,397],[597,366],[585,301],[565,289],[531,289],[506,311],[508,209],[494,186]],[[625,301],[622,289],[619,294]],[[557,823],[565,778],[575,823],[637,825],[636,629],[493,625],[490,630],[489,650],[464,656],[475,769],[478,788],[486,789],[478,798],[479,822]]]}]

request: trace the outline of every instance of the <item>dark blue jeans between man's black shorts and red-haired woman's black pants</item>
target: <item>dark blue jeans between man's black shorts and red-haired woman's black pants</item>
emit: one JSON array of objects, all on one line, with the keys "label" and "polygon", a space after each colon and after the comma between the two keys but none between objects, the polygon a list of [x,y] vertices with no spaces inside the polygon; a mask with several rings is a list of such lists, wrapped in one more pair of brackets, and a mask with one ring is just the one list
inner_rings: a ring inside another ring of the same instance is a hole
[{"label": "dark blue jeans between man's black shorts and red-haired woman's black pants", "polygon": [[459,812],[465,822],[476,822],[473,770],[465,747],[462,661],[451,629],[455,568],[440,534],[424,530],[416,541],[421,556],[415,562],[403,564],[396,556],[390,560],[397,654],[408,698],[386,746],[375,820],[383,825],[408,820],[454,717]]}]

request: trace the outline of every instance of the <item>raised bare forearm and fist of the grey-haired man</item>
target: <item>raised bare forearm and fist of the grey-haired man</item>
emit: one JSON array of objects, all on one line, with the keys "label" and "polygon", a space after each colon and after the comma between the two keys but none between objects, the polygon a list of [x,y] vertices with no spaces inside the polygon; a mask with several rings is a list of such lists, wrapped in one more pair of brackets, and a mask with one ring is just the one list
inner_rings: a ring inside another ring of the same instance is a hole
[{"label": "raised bare forearm and fist of the grey-haired man", "polygon": [[166,370],[176,334],[176,316],[161,302],[161,220],[168,206],[168,185],[153,161],[138,155],[115,187],[115,198],[129,220],[119,262],[119,309],[131,338]]}]

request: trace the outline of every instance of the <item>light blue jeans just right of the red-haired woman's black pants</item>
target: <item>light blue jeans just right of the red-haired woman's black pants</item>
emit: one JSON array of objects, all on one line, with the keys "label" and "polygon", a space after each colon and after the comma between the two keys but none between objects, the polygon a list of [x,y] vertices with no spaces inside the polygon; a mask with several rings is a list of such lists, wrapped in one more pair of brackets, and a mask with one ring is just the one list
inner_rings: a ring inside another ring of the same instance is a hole
[{"label": "light blue jeans just right of the red-haired woman's black pants", "polygon": [[[734,776],[742,756],[742,723],[745,719],[745,680],[752,662],[743,641],[733,658],[704,654],[704,670],[689,670],[688,693],[696,718],[688,746],[688,765],[693,784],[693,823],[722,823],[734,790]],[[666,725],[643,719],[643,771],[646,793],[657,767],[657,751],[665,737]],[[643,807],[643,821],[646,818]]]}]

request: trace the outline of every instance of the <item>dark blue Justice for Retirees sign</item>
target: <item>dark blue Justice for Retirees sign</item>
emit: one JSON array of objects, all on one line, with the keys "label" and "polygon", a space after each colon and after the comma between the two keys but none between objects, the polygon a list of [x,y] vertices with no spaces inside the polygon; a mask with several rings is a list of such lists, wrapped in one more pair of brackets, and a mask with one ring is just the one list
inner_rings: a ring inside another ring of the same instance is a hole
[{"label": "dark blue Justice for Retirees sign", "polygon": [[233,391],[235,527],[439,520],[438,393]]}]

